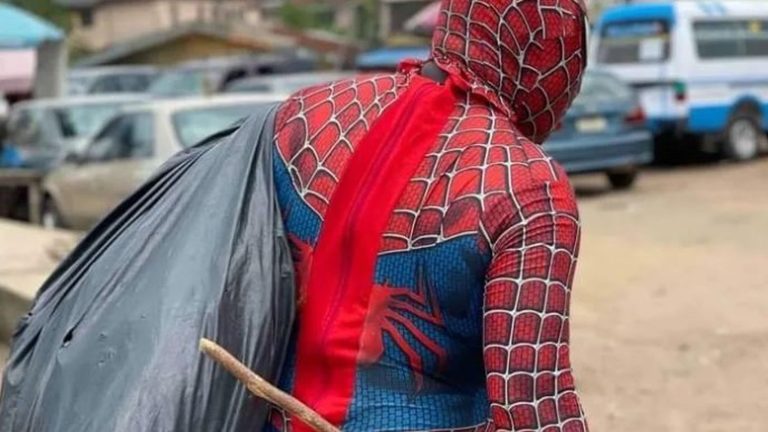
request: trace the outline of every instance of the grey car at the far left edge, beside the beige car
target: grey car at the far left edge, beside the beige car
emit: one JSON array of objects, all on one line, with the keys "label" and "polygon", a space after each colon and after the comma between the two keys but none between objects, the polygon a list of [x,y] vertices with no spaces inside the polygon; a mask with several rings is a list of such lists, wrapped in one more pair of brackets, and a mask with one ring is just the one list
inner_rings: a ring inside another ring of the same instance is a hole
[{"label": "grey car at the far left edge, beside the beige car", "polygon": [[49,170],[88,139],[121,108],[146,96],[135,94],[37,99],[13,106],[4,143],[26,168]]}]

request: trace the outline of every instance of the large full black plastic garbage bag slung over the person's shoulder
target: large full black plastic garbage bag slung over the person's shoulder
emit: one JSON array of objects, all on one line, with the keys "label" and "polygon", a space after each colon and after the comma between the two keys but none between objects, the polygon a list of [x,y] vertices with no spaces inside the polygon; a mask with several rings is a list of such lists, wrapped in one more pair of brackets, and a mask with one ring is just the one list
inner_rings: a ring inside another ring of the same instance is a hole
[{"label": "large full black plastic garbage bag slung over the person's shoulder", "polygon": [[263,402],[198,352],[273,382],[294,282],[272,184],[274,107],[174,157],[46,282],[14,336],[0,431],[258,431]]}]

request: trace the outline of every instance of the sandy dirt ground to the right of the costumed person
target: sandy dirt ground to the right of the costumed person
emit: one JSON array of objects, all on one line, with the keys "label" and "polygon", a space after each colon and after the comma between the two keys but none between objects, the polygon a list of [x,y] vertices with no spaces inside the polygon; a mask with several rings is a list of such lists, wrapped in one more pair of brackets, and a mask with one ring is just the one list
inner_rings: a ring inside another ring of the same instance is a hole
[{"label": "sandy dirt ground to the right of the costumed person", "polygon": [[591,429],[765,431],[768,159],[651,170],[624,193],[574,184],[572,353]]}]

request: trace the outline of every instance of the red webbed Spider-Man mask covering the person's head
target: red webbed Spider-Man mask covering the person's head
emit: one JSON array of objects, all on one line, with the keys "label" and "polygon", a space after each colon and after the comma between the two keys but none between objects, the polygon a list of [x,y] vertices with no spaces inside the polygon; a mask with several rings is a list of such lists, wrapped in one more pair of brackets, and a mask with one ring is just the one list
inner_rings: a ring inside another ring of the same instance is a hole
[{"label": "red webbed Spider-Man mask covering the person's head", "polygon": [[583,11],[579,0],[443,0],[433,55],[541,143],[581,87]]}]

